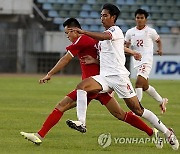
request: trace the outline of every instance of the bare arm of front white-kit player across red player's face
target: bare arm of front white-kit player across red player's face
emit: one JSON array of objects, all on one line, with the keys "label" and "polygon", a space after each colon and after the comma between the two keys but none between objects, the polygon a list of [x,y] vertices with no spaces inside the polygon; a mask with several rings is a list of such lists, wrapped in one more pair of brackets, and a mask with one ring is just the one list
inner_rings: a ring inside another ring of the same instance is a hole
[{"label": "bare arm of front white-kit player across red player's face", "polygon": [[82,30],[80,28],[69,28],[69,30],[77,31],[80,34],[85,34],[99,41],[111,39],[111,35],[108,32],[90,32],[90,31]]}]

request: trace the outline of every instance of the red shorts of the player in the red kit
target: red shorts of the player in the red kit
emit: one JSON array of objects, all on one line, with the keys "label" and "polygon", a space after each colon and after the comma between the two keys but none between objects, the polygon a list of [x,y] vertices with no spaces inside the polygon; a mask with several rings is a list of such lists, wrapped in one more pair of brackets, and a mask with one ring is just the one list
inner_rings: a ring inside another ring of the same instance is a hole
[{"label": "red shorts of the player in the red kit", "polygon": [[[67,94],[72,100],[77,100],[76,89]],[[87,103],[89,104],[92,99],[98,100],[102,105],[106,105],[112,97],[109,93],[88,93],[87,94]]]}]

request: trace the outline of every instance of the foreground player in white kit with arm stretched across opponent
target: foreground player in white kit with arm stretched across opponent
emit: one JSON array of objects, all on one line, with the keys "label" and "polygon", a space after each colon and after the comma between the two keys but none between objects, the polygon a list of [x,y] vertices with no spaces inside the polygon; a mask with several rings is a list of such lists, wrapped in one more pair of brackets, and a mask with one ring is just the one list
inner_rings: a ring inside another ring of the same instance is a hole
[{"label": "foreground player in white kit with arm stretched across opponent", "polygon": [[[174,150],[179,148],[179,142],[172,129],[168,129],[158,117],[140,104],[129,79],[129,71],[125,67],[124,36],[122,30],[115,25],[120,10],[113,4],[105,4],[101,10],[101,22],[104,32],[90,32],[79,28],[78,31],[99,40],[100,75],[84,79],[77,85],[77,117],[78,121],[68,120],[69,127],[79,130],[85,127],[87,110],[87,93],[92,91],[108,92],[114,90],[119,98],[123,98],[129,109],[136,115],[145,118],[160,130]],[[84,109],[84,110],[82,110]]]}]

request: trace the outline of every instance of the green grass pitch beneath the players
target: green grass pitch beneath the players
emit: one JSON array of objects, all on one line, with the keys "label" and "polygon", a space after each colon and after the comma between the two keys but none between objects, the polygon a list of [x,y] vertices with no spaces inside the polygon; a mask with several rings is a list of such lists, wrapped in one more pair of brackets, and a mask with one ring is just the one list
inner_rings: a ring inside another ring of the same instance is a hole
[{"label": "green grass pitch beneath the players", "polygon": [[[87,133],[68,128],[67,119],[76,119],[76,110],[67,111],[48,133],[42,145],[23,139],[20,131],[36,132],[54,106],[80,81],[80,76],[57,75],[48,84],[40,85],[44,75],[0,75],[0,153],[179,153],[168,144],[157,149],[153,143],[115,143],[117,138],[146,138],[141,132],[111,116],[99,102],[92,101],[87,112]],[[133,81],[134,83],[134,81]],[[155,100],[144,93],[142,104],[152,110],[168,127],[173,127],[180,139],[180,80],[150,80],[156,90],[168,97],[167,112],[160,114]],[[123,100],[121,107],[128,110]],[[100,134],[110,133],[111,145],[102,148],[97,142]],[[121,140],[122,141],[122,140]]]}]

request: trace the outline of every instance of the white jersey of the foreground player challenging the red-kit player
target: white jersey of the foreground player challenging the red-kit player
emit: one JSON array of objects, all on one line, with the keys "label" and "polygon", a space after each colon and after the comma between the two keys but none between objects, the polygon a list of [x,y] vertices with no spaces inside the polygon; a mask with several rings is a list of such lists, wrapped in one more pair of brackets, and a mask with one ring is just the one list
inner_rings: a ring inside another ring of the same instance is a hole
[{"label": "white jersey of the foreground player challenging the red-kit player", "polygon": [[112,26],[108,32],[111,40],[99,41],[100,75],[129,75],[125,67],[124,35],[118,26]]}]

